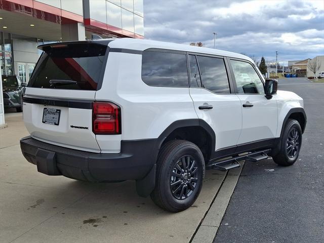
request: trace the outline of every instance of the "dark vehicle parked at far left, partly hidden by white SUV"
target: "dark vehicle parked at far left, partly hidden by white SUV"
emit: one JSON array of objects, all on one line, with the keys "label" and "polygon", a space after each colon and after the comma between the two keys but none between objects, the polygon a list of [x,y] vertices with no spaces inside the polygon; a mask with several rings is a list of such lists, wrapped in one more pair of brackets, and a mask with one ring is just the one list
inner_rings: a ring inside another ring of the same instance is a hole
[{"label": "dark vehicle parked at far left, partly hidden by white SUV", "polygon": [[16,108],[17,112],[21,112],[22,95],[26,86],[17,75],[2,75],[4,107]]}]

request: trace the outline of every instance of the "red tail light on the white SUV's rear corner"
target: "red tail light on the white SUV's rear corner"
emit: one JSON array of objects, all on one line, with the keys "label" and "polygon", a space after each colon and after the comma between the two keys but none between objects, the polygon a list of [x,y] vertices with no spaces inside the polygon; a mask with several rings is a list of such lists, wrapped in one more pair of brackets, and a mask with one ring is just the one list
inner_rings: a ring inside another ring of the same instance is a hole
[{"label": "red tail light on the white SUV's rear corner", "polygon": [[92,131],[94,134],[120,134],[120,107],[111,102],[94,102]]}]

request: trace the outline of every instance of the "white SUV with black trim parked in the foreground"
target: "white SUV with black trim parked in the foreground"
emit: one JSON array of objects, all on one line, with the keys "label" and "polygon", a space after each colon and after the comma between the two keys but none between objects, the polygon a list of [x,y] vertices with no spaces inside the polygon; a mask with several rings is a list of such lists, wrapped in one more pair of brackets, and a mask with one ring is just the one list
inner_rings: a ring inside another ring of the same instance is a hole
[{"label": "white SUV with black trim parked in the foreground", "polygon": [[20,141],[38,172],[136,180],[139,195],[179,212],[207,169],[297,160],[303,99],[277,92],[244,55],[131,38],[39,49],[23,99],[30,136]]}]

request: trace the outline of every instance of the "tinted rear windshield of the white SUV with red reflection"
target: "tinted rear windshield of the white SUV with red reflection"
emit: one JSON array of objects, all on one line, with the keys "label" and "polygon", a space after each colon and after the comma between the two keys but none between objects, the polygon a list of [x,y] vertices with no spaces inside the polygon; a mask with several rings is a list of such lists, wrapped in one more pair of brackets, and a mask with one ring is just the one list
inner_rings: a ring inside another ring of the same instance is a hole
[{"label": "tinted rear windshield of the white SUV with red reflection", "polygon": [[[44,47],[45,53],[35,67],[29,86],[97,90],[103,76],[106,50],[107,46],[97,44],[62,44]],[[63,82],[50,86],[50,80],[63,80]],[[65,80],[76,83],[64,83]]]}]

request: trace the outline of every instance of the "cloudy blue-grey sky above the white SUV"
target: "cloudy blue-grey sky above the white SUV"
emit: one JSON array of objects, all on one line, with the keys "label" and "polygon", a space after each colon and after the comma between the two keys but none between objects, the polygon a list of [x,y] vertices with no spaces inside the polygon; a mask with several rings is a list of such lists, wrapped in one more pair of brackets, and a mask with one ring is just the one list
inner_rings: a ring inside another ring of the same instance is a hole
[{"label": "cloudy blue-grey sky above the white SUV", "polygon": [[[145,38],[279,61],[324,55],[324,4],[308,1],[144,0]],[[287,64],[286,64],[287,65]]]}]

